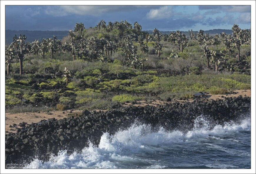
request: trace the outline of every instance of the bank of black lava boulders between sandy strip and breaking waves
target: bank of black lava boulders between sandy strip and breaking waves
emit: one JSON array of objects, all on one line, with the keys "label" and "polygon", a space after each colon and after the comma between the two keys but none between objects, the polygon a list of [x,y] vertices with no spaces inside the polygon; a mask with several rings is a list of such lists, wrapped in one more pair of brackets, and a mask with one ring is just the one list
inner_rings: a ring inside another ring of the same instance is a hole
[{"label": "bank of black lava boulders between sandy strip and breaking waves", "polygon": [[20,123],[21,129],[5,136],[6,163],[29,162],[35,156],[39,160],[47,160],[50,154],[57,154],[62,149],[66,149],[68,153],[80,150],[89,140],[97,145],[103,132],[114,134],[134,122],[186,132],[193,128],[194,119],[202,114],[214,126],[241,119],[242,114],[250,114],[250,108],[251,97],[222,97],[157,106],[119,106],[105,112],[84,110],[79,117],[59,120],[52,118],[32,124]]}]

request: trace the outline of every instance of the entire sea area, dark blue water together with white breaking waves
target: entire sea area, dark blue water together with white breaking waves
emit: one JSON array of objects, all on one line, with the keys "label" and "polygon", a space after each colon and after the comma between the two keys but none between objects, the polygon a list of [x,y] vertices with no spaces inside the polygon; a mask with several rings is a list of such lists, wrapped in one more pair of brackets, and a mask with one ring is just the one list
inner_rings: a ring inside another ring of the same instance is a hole
[{"label": "entire sea area, dark blue water together with white breaking waves", "polygon": [[71,155],[59,151],[25,168],[250,168],[250,144],[250,117],[211,127],[200,116],[185,133],[136,123],[112,136],[104,133],[98,147],[90,143]]}]

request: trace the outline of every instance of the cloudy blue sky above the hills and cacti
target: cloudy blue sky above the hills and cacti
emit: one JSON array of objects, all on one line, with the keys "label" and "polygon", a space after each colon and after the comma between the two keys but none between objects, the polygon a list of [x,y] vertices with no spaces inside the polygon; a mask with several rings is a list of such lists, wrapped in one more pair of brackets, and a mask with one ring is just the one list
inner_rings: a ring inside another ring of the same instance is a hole
[{"label": "cloudy blue sky above the hills and cacti", "polygon": [[6,29],[63,31],[76,22],[85,28],[100,20],[137,21],[142,30],[251,28],[250,6],[6,6]]}]

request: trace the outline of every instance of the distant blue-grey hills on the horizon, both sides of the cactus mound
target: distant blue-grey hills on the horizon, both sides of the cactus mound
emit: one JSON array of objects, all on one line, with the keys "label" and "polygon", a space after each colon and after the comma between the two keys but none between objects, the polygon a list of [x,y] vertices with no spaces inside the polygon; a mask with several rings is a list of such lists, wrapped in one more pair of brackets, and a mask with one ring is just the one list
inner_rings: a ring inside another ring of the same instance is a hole
[{"label": "distant blue-grey hills on the horizon, both sides of the cactus mound", "polygon": [[[56,36],[57,39],[62,39],[64,36],[68,35],[69,31],[28,31],[28,30],[22,30],[22,31],[15,31],[15,30],[5,30],[5,39],[9,43],[12,42],[12,39],[14,35],[16,34],[19,36],[20,34],[24,34],[27,37],[27,42],[33,42],[34,40],[38,39],[41,41],[43,38],[52,38],[53,36]],[[148,33],[152,33],[152,30],[147,30]],[[163,34],[169,34],[172,31],[161,31]],[[176,31],[174,31],[176,32]],[[188,31],[181,31],[188,37]],[[210,35],[215,35],[216,33],[220,34],[222,32],[225,32],[227,34],[232,34],[232,30],[225,30],[225,29],[213,29],[213,30],[206,30],[204,33],[209,33]],[[198,33],[198,31],[197,31]]]}]

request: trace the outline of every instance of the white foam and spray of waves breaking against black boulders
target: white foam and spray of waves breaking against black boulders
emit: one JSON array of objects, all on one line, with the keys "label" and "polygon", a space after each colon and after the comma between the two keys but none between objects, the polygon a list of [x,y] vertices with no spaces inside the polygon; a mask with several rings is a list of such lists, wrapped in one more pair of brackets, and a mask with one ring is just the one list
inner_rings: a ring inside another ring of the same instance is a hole
[{"label": "white foam and spray of waves breaking against black boulders", "polygon": [[[138,154],[154,151],[159,153],[163,151],[162,146],[171,147],[189,142],[197,143],[202,139],[223,141],[226,136],[250,131],[250,119],[242,120],[240,124],[226,123],[224,126],[214,126],[213,129],[210,127],[210,122],[206,121],[203,116],[195,120],[194,129],[187,133],[169,132],[163,128],[153,132],[150,125],[134,124],[129,129],[120,130],[112,136],[104,133],[98,147],[90,143],[89,147],[85,147],[82,152],[74,152],[71,155],[67,155],[66,151],[59,151],[58,155],[51,156],[49,161],[42,162],[35,159],[25,168],[125,168],[125,166],[133,168],[132,164],[136,162],[143,163],[144,168],[164,168],[166,166],[161,163],[142,158]],[[223,147],[217,147],[210,143],[208,146],[227,151]]]}]

